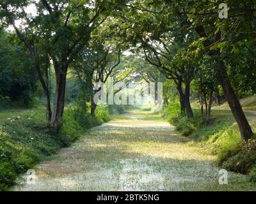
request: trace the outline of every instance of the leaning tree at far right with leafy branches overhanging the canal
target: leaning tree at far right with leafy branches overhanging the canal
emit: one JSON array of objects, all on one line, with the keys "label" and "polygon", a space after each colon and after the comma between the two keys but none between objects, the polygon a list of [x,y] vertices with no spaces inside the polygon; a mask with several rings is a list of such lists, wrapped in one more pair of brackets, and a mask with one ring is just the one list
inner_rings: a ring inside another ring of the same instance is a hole
[{"label": "leaning tree at far right with leafy branches overhanging the canal", "polygon": [[[216,75],[228,101],[230,110],[239,126],[241,136],[244,140],[247,140],[252,137],[253,132],[230,82],[227,72],[228,53],[225,52],[223,47],[234,45],[234,42],[237,42],[237,38],[234,38],[234,36],[237,34],[255,43],[255,40],[253,40],[255,39],[255,1],[227,1],[230,7],[228,19],[218,17],[220,11],[218,6],[220,3],[223,2],[200,1],[195,4],[193,1],[184,0],[144,1],[141,4],[140,1],[133,1],[127,4],[128,7],[132,8],[129,15],[134,20],[136,19],[133,25],[136,29],[131,31],[131,33],[135,33],[134,38],[141,37],[143,32],[141,34],[137,32],[141,31],[141,29],[137,29],[135,26],[140,23],[143,25],[147,24],[146,26],[148,28],[154,26],[154,31],[151,29],[152,36],[166,32],[173,34],[179,33],[180,31],[196,32],[198,34],[198,40],[195,41],[201,41],[202,45],[204,45],[203,49],[200,48],[201,51],[204,54],[210,55],[212,60],[218,64]],[[134,16],[140,18],[140,20],[134,18]],[[147,23],[144,22],[146,19],[148,20]]]}]

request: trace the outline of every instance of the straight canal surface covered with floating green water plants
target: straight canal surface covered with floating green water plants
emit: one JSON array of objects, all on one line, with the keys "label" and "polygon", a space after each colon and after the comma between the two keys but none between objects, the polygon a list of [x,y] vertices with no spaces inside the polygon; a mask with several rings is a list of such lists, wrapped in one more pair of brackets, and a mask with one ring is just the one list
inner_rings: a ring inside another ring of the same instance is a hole
[{"label": "straight canal surface covered with floating green water plants", "polygon": [[159,115],[140,110],[91,129],[35,170],[35,184],[24,180],[14,190],[196,191],[246,184],[244,175],[231,172],[228,185],[218,184],[214,156],[203,154]]}]

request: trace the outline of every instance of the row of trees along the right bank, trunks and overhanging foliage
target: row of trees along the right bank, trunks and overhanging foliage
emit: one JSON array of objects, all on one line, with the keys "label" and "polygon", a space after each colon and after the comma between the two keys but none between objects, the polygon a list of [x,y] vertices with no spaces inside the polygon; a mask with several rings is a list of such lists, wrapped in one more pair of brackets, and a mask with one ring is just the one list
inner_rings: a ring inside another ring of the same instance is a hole
[{"label": "row of trees along the right bank, trunks and overhanging foliage", "polygon": [[237,96],[243,89],[255,94],[256,1],[227,1],[227,19],[218,15],[221,3],[132,1],[122,8],[122,24],[116,26],[120,34],[125,33],[126,41],[143,50],[150,64],[173,80],[181,111],[188,117],[193,117],[189,101],[192,80],[197,81],[207,120],[220,85],[246,140],[253,132]]}]

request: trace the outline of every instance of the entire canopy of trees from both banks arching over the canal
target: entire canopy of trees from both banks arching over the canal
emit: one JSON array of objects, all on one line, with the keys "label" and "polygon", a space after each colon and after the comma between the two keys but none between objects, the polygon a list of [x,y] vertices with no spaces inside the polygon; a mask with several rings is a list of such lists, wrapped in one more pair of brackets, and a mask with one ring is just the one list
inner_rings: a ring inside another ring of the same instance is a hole
[{"label": "entire canopy of trees from both banks arching over the canal", "polygon": [[[61,128],[68,69],[75,71],[81,89],[86,90],[93,115],[93,84],[109,77],[116,83],[127,79],[134,70],[122,66],[125,70],[121,73],[118,65],[122,52],[130,48],[138,55],[137,64],[144,59],[161,75],[153,69],[143,70],[143,66],[138,66],[136,73],[148,82],[163,75],[170,80],[179,93],[180,111],[188,117],[193,117],[191,83],[206,122],[213,99],[223,91],[246,140],[253,132],[237,96],[241,92],[255,94],[256,2],[227,1],[227,19],[218,16],[221,3],[3,0],[0,18],[29,52],[47,99],[47,121],[56,132]],[[28,15],[26,9],[31,5],[35,11]],[[51,64],[56,77],[53,108]]]}]

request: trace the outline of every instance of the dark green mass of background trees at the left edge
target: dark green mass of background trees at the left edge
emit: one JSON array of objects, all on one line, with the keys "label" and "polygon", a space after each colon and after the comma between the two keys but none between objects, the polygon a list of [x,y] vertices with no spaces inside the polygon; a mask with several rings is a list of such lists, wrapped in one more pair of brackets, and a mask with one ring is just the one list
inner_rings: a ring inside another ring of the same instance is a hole
[{"label": "dark green mass of background trees at the left edge", "polygon": [[29,106],[37,89],[33,59],[16,36],[0,30],[0,106]]}]

